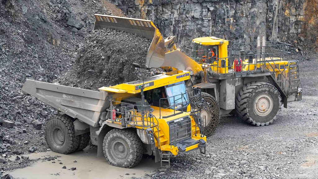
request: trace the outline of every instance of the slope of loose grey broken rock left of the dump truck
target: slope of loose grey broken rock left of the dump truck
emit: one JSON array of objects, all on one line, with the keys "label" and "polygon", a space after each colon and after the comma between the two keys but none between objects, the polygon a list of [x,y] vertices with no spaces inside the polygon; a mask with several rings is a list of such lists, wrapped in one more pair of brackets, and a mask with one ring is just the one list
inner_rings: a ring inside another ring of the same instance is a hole
[{"label": "slope of loose grey broken rock left of the dump truck", "polygon": [[123,16],[107,1],[0,0],[0,176],[32,162],[11,156],[49,149],[44,128],[56,110],[21,88],[25,79],[53,82],[69,70],[94,13]]}]

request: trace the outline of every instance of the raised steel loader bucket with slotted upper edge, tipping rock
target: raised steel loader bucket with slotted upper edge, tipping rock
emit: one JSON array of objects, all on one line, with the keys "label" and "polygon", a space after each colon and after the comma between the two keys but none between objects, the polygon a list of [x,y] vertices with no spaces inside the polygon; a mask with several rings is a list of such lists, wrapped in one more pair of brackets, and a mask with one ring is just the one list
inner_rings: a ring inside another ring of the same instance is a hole
[{"label": "raised steel loader bucket with slotted upper edge, tipping rock", "polygon": [[[95,14],[94,29],[111,28],[137,34],[151,40],[146,66],[159,68],[164,62],[164,40],[159,29],[150,20]],[[142,65],[142,64],[140,64]]]}]

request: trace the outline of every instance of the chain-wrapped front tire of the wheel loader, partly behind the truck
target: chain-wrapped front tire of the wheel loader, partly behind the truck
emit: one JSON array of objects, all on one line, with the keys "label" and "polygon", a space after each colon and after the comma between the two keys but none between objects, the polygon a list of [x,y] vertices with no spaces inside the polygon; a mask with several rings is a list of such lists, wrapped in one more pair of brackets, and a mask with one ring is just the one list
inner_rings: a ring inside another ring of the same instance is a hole
[{"label": "chain-wrapped front tire of the wheel loader, partly behind the truck", "polygon": [[[209,110],[208,112],[210,112],[211,118],[209,122],[206,123],[206,126],[204,127],[204,135],[209,137],[215,132],[220,122],[220,108],[218,105],[218,101],[215,99],[215,97],[205,92],[201,92],[201,94],[204,101],[209,103],[209,107],[207,108],[207,110]],[[198,99],[193,99],[193,91],[189,92],[188,96],[189,96],[190,102],[192,102],[193,100],[195,101],[198,100]]]}]

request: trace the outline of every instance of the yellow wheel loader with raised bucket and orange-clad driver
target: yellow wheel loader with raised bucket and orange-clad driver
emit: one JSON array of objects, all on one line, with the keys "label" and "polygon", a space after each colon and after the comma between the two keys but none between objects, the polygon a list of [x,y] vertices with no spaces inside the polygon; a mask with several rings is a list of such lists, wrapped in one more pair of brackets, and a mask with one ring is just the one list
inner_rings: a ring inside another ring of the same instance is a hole
[{"label": "yellow wheel loader with raised bucket and orange-clad driver", "polygon": [[[289,44],[258,38],[255,43],[235,43],[228,48],[228,40],[199,37],[183,53],[176,47],[176,37],[164,40],[149,20],[99,14],[95,18],[94,29],[112,27],[152,39],[147,67],[190,71],[187,85],[200,87],[209,104],[201,111],[206,116],[207,136],[216,129],[219,116],[236,113],[252,125],[264,126],[277,118],[282,104],[286,108],[287,102],[301,100],[297,61],[287,59],[294,50]],[[189,89],[190,100],[197,101],[191,94]]]}]

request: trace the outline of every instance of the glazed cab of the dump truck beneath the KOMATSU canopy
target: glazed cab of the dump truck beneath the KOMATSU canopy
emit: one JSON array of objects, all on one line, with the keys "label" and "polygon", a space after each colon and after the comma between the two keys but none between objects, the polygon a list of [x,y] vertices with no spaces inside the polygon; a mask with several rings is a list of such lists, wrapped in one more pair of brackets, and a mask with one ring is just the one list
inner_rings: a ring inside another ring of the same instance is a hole
[{"label": "glazed cab of the dump truck beneath the KOMATSU canopy", "polygon": [[184,81],[150,89],[144,93],[150,105],[160,108],[186,111],[190,104]]}]

